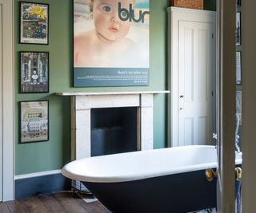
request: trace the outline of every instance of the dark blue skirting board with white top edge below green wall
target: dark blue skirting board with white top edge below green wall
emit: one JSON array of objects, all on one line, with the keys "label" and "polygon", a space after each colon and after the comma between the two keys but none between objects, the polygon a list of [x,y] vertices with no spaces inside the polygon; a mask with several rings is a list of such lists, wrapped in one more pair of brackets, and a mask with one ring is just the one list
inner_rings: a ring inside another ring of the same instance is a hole
[{"label": "dark blue skirting board with white top edge below green wall", "polygon": [[60,170],[15,176],[15,199],[71,189],[71,180]]}]

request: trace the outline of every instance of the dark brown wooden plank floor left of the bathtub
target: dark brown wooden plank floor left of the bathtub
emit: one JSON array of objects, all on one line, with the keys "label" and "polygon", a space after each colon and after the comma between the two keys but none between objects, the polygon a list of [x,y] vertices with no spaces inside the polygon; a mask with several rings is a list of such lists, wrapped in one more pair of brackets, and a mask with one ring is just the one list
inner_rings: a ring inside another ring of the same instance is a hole
[{"label": "dark brown wooden plank floor left of the bathtub", "polygon": [[0,203],[0,213],[111,213],[102,203],[86,203],[72,191],[54,192]]}]

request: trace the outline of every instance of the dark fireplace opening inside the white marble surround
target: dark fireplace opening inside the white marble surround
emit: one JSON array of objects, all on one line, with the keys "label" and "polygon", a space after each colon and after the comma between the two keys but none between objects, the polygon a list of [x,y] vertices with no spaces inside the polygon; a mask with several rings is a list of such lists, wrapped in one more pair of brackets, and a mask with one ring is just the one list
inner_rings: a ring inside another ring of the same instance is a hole
[{"label": "dark fireplace opening inside the white marble surround", "polygon": [[137,151],[137,107],[91,108],[91,156]]}]

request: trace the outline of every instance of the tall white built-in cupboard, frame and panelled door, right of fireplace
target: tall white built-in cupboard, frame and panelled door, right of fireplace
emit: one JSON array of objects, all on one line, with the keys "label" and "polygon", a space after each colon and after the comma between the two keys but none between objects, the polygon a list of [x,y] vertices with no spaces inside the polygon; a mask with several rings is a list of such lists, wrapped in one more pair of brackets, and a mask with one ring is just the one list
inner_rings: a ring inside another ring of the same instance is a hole
[{"label": "tall white built-in cupboard, frame and panelled door, right of fireplace", "polygon": [[169,146],[214,144],[216,12],[167,12]]}]

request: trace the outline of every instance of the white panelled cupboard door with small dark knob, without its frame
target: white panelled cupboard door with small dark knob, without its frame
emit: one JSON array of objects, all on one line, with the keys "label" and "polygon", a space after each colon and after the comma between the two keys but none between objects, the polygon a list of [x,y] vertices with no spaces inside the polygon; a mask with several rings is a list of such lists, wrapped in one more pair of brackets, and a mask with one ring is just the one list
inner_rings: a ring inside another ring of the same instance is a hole
[{"label": "white panelled cupboard door with small dark knob, without its frame", "polygon": [[214,27],[206,22],[178,24],[178,146],[211,141]]}]

